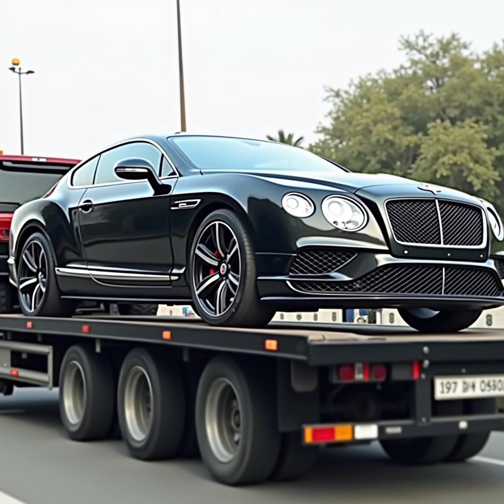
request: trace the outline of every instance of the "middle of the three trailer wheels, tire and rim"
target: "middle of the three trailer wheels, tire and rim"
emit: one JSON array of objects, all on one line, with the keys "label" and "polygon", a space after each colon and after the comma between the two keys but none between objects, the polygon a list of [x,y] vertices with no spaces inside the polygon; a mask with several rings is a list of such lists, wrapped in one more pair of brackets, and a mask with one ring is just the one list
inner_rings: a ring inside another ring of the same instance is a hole
[{"label": "middle of the three trailer wheels, tire and rim", "polygon": [[124,359],[117,391],[119,425],[137,459],[173,457],[185,420],[182,376],[163,354],[134,348]]}]

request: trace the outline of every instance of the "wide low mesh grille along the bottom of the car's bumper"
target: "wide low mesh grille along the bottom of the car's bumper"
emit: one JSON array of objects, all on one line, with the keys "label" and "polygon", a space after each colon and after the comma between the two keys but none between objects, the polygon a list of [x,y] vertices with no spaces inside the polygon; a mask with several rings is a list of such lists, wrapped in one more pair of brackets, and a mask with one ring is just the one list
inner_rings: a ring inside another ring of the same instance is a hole
[{"label": "wide low mesh grille along the bottom of the car's bumper", "polygon": [[308,294],[423,294],[498,297],[504,295],[494,271],[456,266],[382,266],[350,281],[291,282]]}]

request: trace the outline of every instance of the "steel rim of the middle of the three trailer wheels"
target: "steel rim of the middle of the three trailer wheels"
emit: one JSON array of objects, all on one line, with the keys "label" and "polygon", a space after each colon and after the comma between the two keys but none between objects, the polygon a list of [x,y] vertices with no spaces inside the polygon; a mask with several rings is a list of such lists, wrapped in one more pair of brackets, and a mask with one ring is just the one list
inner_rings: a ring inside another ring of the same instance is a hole
[{"label": "steel rim of the middle of the three trailer wheels", "polygon": [[152,385],[145,369],[134,366],[124,388],[124,414],[128,431],[141,443],[149,435],[153,418]]}]

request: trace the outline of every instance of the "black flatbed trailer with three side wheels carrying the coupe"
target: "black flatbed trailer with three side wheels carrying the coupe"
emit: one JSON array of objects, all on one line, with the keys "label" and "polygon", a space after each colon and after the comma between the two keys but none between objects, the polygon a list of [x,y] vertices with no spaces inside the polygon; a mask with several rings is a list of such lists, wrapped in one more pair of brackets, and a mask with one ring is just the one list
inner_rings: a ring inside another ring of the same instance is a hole
[{"label": "black flatbed trailer with three side wheels carrying the coupe", "polygon": [[59,387],[72,439],[201,454],[226,484],[298,478],[321,446],[374,440],[398,463],[462,461],[504,430],[504,331],[1,315],[0,392],[33,386]]}]

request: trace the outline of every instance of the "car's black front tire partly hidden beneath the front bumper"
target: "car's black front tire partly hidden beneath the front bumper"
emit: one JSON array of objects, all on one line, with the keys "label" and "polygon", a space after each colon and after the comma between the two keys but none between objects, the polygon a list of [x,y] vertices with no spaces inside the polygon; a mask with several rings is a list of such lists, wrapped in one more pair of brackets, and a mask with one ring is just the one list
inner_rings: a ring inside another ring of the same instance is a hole
[{"label": "car's black front tire partly hidden beneath the front bumper", "polygon": [[399,308],[401,318],[422,333],[453,333],[467,329],[481,315],[482,310],[440,310]]}]

